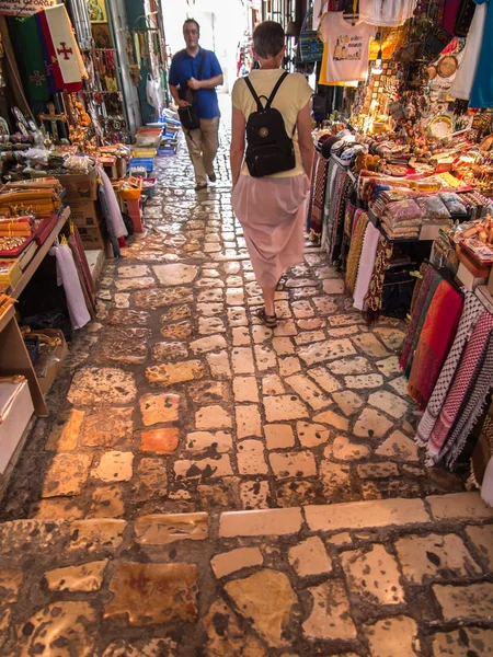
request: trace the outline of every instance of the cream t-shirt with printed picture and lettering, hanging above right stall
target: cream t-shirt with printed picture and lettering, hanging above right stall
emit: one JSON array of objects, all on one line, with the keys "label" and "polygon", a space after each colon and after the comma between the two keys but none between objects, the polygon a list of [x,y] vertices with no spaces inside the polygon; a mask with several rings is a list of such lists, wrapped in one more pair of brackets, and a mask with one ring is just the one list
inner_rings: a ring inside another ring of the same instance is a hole
[{"label": "cream t-shirt with printed picture and lettering, hanging above right stall", "polygon": [[328,12],[320,24],[320,34],[326,46],[325,80],[349,82],[366,80],[369,42],[375,25],[344,20],[344,12]]}]

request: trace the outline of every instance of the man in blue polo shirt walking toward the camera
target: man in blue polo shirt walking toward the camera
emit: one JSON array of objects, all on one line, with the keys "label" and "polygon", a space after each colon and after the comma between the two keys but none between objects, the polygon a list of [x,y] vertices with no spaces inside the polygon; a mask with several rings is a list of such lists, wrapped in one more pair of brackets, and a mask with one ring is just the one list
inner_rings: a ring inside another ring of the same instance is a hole
[{"label": "man in blue polo shirt walking toward the camera", "polygon": [[173,57],[170,68],[170,91],[179,107],[192,103],[197,110],[200,127],[184,130],[190,159],[195,171],[195,189],[207,187],[207,177],[216,182],[214,160],[218,148],[219,103],[216,87],[222,84],[222,69],[211,50],[198,45],[200,27],[188,19],[183,24],[186,48]]}]

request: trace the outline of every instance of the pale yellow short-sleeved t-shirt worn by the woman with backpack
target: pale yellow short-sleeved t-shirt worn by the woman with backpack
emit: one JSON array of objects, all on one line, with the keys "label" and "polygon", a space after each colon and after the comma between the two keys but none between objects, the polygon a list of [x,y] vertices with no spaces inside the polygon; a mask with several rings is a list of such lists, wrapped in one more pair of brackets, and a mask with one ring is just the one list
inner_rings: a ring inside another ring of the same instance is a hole
[{"label": "pale yellow short-sleeved t-shirt worn by the woman with backpack", "polygon": [[[253,84],[253,89],[255,90],[256,94],[259,96],[264,95],[268,99],[277,80],[283,73],[283,69],[255,69],[250,73],[249,78],[251,83]],[[312,95],[313,91],[311,90],[305,77],[301,76],[301,73],[289,73],[289,76],[284,80],[283,84],[279,87],[272,103],[272,106],[275,110],[278,110],[283,115],[286,132],[289,136],[294,134],[298,120],[298,114],[305,107],[305,105],[308,103]],[[246,82],[243,78],[240,78],[234,82],[231,97],[233,106],[240,110],[240,112],[244,116],[244,120],[248,122],[249,116],[252,114],[252,112],[256,112],[256,103],[253,99],[250,89],[246,87]],[[261,100],[265,104],[265,100]],[[280,173],[275,173],[271,177],[290,177],[305,172],[296,134],[293,140],[296,154],[296,168],[289,171],[282,171]],[[243,163],[241,173],[243,175],[250,175],[249,169],[245,163]]]}]

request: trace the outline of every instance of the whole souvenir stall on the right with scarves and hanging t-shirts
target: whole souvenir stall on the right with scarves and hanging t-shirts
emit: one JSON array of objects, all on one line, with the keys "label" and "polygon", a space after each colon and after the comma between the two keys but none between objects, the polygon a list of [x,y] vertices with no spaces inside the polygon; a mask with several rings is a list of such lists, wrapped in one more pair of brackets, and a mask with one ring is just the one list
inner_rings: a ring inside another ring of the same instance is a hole
[{"label": "whole souvenir stall on the right with scarves and hanging t-shirts", "polygon": [[368,323],[406,321],[416,440],[429,465],[472,463],[478,485],[493,454],[492,27],[488,2],[316,0],[300,35],[325,103],[310,239]]}]

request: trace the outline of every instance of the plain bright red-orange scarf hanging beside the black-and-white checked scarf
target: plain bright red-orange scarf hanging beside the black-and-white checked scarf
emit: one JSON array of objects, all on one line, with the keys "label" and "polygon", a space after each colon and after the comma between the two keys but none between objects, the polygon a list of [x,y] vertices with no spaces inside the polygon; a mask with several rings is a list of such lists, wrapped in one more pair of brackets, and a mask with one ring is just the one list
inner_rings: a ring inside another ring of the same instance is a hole
[{"label": "plain bright red-orange scarf hanging beside the black-and-white checked scarf", "polygon": [[423,324],[409,380],[409,393],[426,406],[457,332],[462,296],[446,280],[436,288]]}]

